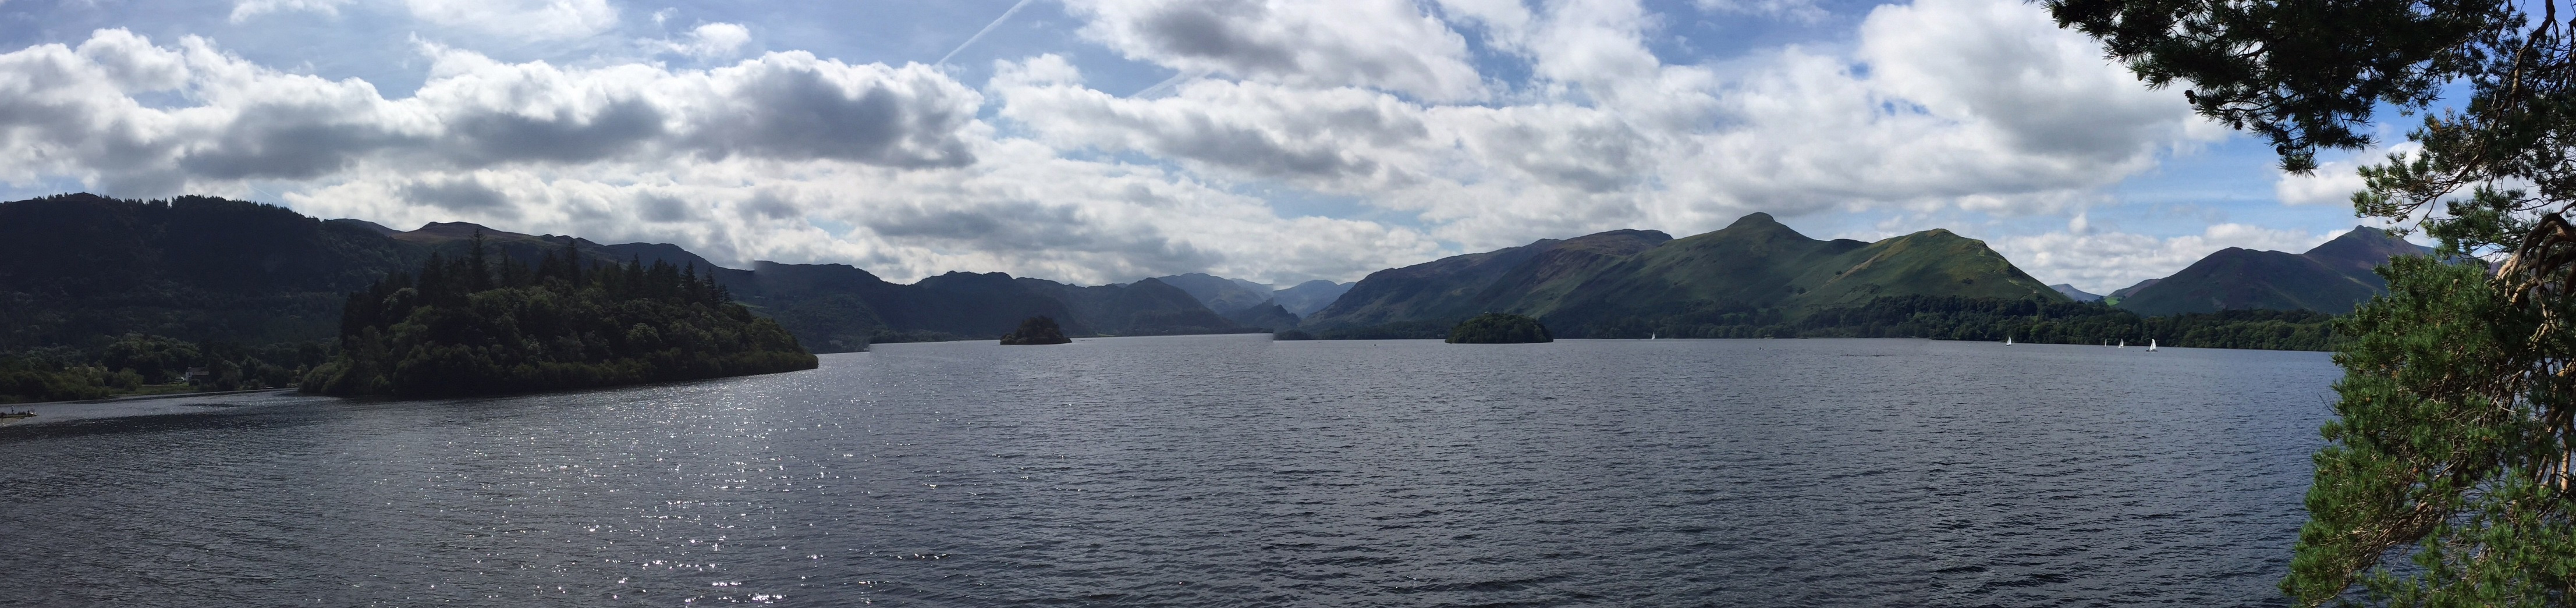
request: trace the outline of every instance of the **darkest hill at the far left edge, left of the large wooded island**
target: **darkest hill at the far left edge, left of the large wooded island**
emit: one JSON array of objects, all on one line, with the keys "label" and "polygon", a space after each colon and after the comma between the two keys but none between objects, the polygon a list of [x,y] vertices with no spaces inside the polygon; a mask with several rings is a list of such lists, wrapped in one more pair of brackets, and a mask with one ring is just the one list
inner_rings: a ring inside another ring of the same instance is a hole
[{"label": "darkest hill at the far left edge, left of the large wooded island", "polygon": [[0,204],[0,348],[330,340],[340,296],[425,258],[379,229],[206,196]]}]

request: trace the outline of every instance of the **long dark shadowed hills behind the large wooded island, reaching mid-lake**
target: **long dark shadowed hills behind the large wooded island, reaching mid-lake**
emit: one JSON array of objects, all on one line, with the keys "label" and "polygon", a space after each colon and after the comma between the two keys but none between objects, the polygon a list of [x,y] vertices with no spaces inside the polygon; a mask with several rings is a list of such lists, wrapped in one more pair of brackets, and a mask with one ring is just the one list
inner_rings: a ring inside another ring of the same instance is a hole
[{"label": "long dark shadowed hills behind the large wooded island, reaching mid-lake", "polygon": [[520,265],[569,247],[585,265],[665,263],[714,276],[739,304],[778,319],[817,353],[886,340],[997,337],[1041,314],[1064,319],[1077,335],[1247,330],[1162,283],[1082,289],[1005,273],[945,273],[904,286],[850,265],[721,268],[665,242],[598,245],[466,222],[402,232],[204,196],[118,201],[72,193],[0,204],[0,317],[10,319],[0,327],[0,350],[103,348],[126,332],[185,343],[327,345],[350,291],[417,268],[430,255],[464,258],[474,234],[482,234],[492,260]]}]

